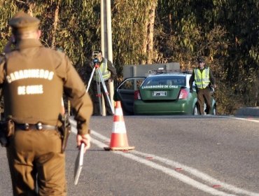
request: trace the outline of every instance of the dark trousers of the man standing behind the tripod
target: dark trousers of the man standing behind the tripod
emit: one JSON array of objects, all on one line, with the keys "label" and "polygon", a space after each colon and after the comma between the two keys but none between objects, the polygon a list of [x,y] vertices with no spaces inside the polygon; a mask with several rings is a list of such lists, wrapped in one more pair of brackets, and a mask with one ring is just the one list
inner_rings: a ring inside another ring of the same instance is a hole
[{"label": "dark trousers of the man standing behind the tripod", "polygon": [[[107,92],[110,92],[109,81],[105,80],[104,83],[105,83],[105,86],[107,88]],[[109,100],[107,99],[107,96],[106,96],[106,93],[104,91],[104,87],[102,86],[102,83],[100,83],[100,87],[101,87],[101,92],[102,92],[103,97],[104,97],[106,115],[107,116],[113,115],[113,111],[111,110],[111,106],[109,104]],[[101,115],[100,108],[99,108],[99,96],[100,96],[100,94],[98,94],[97,82],[95,82],[95,81],[92,83],[92,90],[94,92],[94,96],[93,96],[94,97],[94,112],[93,112],[93,115]]]}]

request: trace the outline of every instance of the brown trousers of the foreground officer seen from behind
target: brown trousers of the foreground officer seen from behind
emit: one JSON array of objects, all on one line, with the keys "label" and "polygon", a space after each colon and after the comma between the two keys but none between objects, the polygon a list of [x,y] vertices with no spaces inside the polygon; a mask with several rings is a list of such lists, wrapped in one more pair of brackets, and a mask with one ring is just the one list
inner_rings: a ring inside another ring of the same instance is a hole
[{"label": "brown trousers of the foreground officer seen from behind", "polygon": [[[55,130],[16,130],[7,157],[13,195],[66,195],[65,157]],[[36,175],[37,174],[37,175]]]}]

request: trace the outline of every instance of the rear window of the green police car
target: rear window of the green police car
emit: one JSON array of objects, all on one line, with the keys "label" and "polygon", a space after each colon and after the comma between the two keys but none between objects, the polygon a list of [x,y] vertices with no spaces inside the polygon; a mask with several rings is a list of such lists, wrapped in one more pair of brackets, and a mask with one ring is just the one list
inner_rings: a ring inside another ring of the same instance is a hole
[{"label": "rear window of the green police car", "polygon": [[154,76],[146,78],[142,86],[145,85],[186,85],[185,76]]}]

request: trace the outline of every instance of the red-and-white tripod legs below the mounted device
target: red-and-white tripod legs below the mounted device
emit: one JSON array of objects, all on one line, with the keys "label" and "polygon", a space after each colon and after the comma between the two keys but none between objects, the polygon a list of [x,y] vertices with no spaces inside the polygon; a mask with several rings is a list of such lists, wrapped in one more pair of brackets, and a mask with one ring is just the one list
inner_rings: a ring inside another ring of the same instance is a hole
[{"label": "red-and-white tripod legs below the mounted device", "polygon": [[99,76],[99,80],[97,80],[97,94],[98,94],[98,99],[99,99],[99,111],[100,113],[102,113],[102,92],[101,92],[101,83],[102,83],[102,87],[104,88],[104,92],[106,95],[106,98],[109,102],[109,106],[111,107],[111,111],[114,113],[114,109],[113,106],[111,105],[111,99],[109,97],[109,92],[107,91],[106,85],[104,83],[104,78],[102,77],[102,73],[100,71],[100,65],[98,63],[94,63],[94,68],[92,69],[92,73],[89,79],[89,83],[87,85],[87,89],[86,92],[88,92],[91,81],[92,81],[92,77],[94,76],[94,72],[96,74],[96,78],[98,78]]}]

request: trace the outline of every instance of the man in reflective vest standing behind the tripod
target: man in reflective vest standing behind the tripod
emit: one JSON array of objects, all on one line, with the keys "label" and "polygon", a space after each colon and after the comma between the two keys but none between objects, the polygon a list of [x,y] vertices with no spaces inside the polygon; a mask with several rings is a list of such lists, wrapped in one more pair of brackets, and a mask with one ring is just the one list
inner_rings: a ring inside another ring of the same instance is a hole
[{"label": "man in reflective vest standing behind the tripod", "polygon": [[[91,64],[92,68],[95,64],[95,62],[94,62],[95,58],[98,59],[97,64],[99,64],[99,70],[102,73],[102,78],[104,79],[104,83],[106,85],[107,92],[110,93],[109,82],[113,81],[116,78],[116,75],[117,75],[116,68],[113,66],[113,63],[109,59],[106,59],[102,56],[102,50],[98,50],[97,53],[94,53],[93,62]],[[102,83],[101,83],[101,78],[99,78],[99,74],[94,74],[92,80],[93,80],[93,83],[92,83],[93,96],[92,97],[93,97],[93,102],[94,102],[94,111],[93,111],[92,115],[93,116],[102,115],[100,113],[99,97],[103,94],[105,108],[106,108],[106,116],[112,116],[113,110],[111,109],[111,106],[109,104],[109,99],[106,97],[104,87],[102,86]],[[100,85],[100,83],[101,83],[101,85]],[[102,94],[98,94],[97,85],[100,86]]]}]

